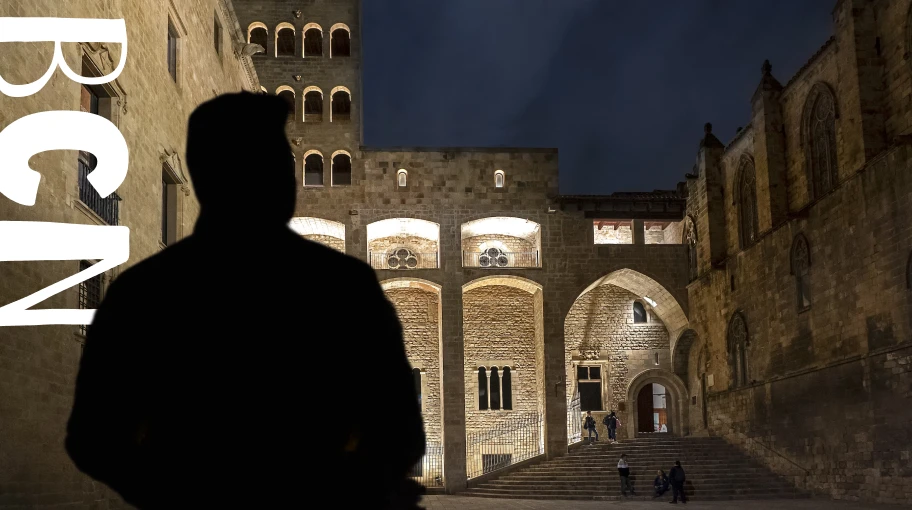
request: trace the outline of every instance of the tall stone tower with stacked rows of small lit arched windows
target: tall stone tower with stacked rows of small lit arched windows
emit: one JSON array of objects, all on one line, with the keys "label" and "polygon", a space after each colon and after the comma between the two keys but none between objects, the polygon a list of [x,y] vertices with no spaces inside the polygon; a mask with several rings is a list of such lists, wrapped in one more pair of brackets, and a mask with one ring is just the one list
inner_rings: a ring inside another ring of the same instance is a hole
[{"label": "tall stone tower with stacked rows of small lit arched windows", "polygon": [[248,44],[265,49],[253,56],[262,91],[293,109],[288,135],[307,200],[351,203],[361,178],[360,0],[240,0],[235,9]]}]

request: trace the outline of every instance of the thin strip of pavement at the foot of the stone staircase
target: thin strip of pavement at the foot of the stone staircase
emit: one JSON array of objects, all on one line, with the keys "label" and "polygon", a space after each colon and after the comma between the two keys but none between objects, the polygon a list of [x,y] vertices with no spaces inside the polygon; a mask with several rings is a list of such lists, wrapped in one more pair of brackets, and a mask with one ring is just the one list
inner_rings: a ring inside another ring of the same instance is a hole
[{"label": "thin strip of pavement at the foot of the stone staircase", "polygon": [[[423,506],[427,510],[605,510],[606,508],[668,508],[670,500],[655,501],[529,501],[518,499],[465,498],[459,496],[428,496]],[[765,501],[711,501],[692,502],[684,508],[712,508],[716,510],[896,510],[895,505],[876,505],[832,501],[829,499],[765,500]]]}]

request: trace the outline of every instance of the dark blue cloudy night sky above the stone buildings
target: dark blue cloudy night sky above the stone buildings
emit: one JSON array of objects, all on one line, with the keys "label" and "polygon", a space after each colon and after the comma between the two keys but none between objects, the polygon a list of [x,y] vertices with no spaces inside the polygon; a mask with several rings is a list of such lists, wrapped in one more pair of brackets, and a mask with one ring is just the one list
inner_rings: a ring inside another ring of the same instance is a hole
[{"label": "dark blue cloudy night sky above the stone buildings", "polygon": [[673,189],[835,0],[366,0],[364,143],[558,147],[561,193]]}]

